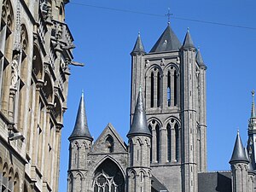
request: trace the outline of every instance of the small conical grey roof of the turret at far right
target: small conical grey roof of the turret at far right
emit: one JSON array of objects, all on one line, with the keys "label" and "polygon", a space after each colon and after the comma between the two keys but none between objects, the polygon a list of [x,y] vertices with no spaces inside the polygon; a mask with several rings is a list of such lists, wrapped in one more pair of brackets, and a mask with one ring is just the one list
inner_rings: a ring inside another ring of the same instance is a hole
[{"label": "small conical grey roof of the turret at far right", "polygon": [[241,137],[239,135],[239,131],[237,131],[236,136],[236,143],[234,146],[233,154],[230,160],[230,164],[238,163],[238,162],[245,162],[249,163],[249,160],[247,159],[247,156],[245,154],[245,150],[243,148],[243,145],[241,143]]}]

